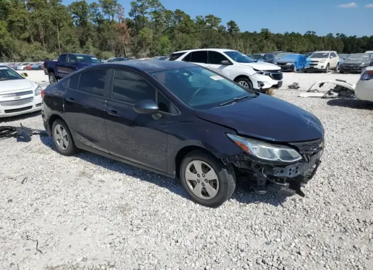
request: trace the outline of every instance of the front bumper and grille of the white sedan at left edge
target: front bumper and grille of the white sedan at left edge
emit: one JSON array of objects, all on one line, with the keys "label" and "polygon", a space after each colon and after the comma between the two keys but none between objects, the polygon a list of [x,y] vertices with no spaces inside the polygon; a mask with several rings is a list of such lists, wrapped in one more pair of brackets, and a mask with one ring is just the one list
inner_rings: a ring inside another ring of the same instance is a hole
[{"label": "front bumper and grille of the white sedan at left edge", "polygon": [[18,90],[0,95],[0,118],[33,113],[41,110],[41,96],[33,90]]}]

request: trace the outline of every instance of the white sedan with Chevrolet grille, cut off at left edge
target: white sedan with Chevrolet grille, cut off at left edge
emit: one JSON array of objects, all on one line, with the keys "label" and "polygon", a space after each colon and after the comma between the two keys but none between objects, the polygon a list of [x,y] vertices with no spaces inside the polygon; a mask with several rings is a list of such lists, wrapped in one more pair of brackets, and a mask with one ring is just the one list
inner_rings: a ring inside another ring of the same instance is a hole
[{"label": "white sedan with Chevrolet grille, cut off at left edge", "polygon": [[0,65],[0,118],[40,111],[41,91],[14,69]]}]

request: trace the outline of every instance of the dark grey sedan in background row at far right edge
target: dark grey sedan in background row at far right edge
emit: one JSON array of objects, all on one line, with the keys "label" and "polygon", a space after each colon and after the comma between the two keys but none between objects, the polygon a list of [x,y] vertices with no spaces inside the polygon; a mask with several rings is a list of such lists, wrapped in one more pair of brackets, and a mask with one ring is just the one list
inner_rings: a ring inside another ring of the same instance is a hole
[{"label": "dark grey sedan in background row at far right edge", "polygon": [[339,67],[339,73],[362,72],[373,66],[373,53],[351,53]]}]

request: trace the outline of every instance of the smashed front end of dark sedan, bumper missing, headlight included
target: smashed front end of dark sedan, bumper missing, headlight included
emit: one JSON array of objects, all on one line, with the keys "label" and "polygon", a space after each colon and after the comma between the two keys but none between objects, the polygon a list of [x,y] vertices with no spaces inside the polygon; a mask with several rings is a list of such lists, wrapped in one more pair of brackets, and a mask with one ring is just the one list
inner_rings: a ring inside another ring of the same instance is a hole
[{"label": "smashed front end of dark sedan, bumper missing, headlight included", "polygon": [[233,164],[238,178],[249,183],[250,189],[264,194],[274,191],[288,196],[304,197],[301,187],[315,175],[324,149],[324,140],[271,144],[227,134],[244,152],[222,158]]}]

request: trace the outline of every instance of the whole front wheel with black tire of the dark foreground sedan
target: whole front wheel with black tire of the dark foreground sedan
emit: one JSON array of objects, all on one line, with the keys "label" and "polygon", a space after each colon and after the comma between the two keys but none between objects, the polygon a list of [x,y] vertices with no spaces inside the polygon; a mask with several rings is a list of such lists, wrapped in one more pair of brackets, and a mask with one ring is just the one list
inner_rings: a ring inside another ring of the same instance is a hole
[{"label": "whole front wheel with black tire of the dark foreground sedan", "polygon": [[[194,164],[197,165],[198,170],[194,167]],[[210,173],[211,170],[213,170],[212,173]],[[202,172],[202,175],[198,172]],[[207,174],[212,176],[207,176]],[[207,178],[207,180],[203,177],[211,178]],[[180,179],[186,193],[194,201],[207,207],[219,207],[232,196],[236,188],[236,175],[232,166],[230,164],[224,165],[215,156],[200,150],[192,151],[183,158],[180,165]],[[200,187],[200,190],[198,190],[198,187]],[[195,192],[192,191],[196,188]],[[196,194],[199,194],[199,196]]]}]

